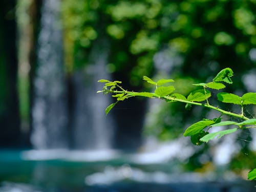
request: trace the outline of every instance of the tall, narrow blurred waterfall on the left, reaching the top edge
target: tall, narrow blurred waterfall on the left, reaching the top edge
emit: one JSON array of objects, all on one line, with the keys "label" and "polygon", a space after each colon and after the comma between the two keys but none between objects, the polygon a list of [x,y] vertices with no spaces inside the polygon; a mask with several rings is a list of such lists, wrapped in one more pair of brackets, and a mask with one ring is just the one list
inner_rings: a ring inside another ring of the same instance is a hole
[{"label": "tall, narrow blurred waterfall on the left, reaching the top edge", "polygon": [[67,147],[67,102],[59,8],[60,0],[42,1],[31,134],[31,142],[37,149]]}]

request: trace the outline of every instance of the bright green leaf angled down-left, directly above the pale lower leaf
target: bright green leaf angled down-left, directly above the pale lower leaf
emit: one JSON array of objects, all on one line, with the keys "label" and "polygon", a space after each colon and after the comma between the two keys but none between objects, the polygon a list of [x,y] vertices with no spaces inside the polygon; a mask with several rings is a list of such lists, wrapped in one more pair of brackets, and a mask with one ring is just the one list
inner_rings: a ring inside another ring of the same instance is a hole
[{"label": "bright green leaf angled down-left, directly above the pale lower leaf", "polygon": [[184,132],[184,136],[191,136],[200,133],[205,127],[214,124],[215,122],[212,120],[207,121],[198,121],[194,123],[193,125],[190,125],[187,127],[186,131]]}]

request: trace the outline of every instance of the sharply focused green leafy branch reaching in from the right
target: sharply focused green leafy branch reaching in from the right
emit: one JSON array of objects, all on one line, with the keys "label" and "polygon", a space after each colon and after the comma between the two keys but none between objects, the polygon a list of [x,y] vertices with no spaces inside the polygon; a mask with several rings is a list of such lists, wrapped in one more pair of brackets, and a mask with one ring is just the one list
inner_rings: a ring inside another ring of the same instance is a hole
[{"label": "sharply focused green leafy branch reaching in from the right", "polygon": [[[187,110],[189,110],[192,105],[199,105],[220,112],[219,117],[214,119],[202,119],[190,125],[185,130],[183,134],[185,137],[190,136],[190,140],[193,144],[201,145],[203,142],[207,143],[209,140],[214,139],[217,136],[218,138],[221,138],[224,135],[234,133],[238,130],[256,128],[256,119],[248,118],[244,115],[244,105],[256,104],[256,93],[245,93],[242,97],[225,92],[220,92],[217,94],[217,99],[223,103],[240,105],[240,114],[220,109],[218,106],[211,105],[208,101],[208,98],[211,97],[211,92],[209,91],[209,89],[224,89],[226,86],[223,83],[232,84],[232,76],[233,71],[230,68],[225,68],[221,70],[217,74],[217,76],[212,79],[211,82],[193,84],[194,86],[201,87],[201,89],[191,92],[187,97],[182,94],[175,93],[174,86],[166,86],[166,84],[174,82],[173,79],[160,79],[158,81],[153,81],[151,78],[148,78],[146,76],[143,77],[143,80],[147,81],[150,84],[153,84],[156,87],[154,93],[127,91],[121,87],[121,81],[109,81],[105,79],[101,79],[98,81],[105,84],[103,86],[103,90],[98,91],[97,93],[110,93],[112,94],[112,97],[116,98],[116,102],[110,104],[105,109],[106,114],[108,114],[119,101],[123,101],[125,99],[135,96],[158,98],[163,99],[166,102],[183,102],[186,103],[185,108]],[[221,121],[223,115],[236,117],[242,121]],[[224,125],[232,125],[234,126],[234,128],[214,133],[208,132],[208,130],[212,127]],[[256,180],[256,168],[252,169],[248,173],[248,179]]]}]

